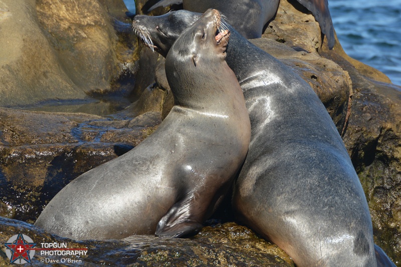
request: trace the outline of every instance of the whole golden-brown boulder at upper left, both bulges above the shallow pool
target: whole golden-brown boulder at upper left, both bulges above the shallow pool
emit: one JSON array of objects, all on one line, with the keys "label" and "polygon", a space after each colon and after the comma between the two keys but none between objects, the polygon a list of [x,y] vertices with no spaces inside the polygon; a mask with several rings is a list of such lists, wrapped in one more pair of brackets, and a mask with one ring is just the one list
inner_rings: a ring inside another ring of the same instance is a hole
[{"label": "whole golden-brown boulder at upper left, both bulges above the shallow pool", "polygon": [[[110,3],[102,0],[103,3]],[[121,90],[132,36],[117,36],[112,5],[76,0],[0,3],[0,106],[87,99]],[[128,71],[127,71],[128,70]],[[131,88],[132,89],[132,88]]]}]

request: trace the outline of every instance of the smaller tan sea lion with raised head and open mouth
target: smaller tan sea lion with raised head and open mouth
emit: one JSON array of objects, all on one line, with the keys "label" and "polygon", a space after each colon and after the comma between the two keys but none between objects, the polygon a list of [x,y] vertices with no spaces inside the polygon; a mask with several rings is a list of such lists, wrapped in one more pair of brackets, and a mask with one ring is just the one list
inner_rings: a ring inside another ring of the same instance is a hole
[{"label": "smaller tan sea lion with raised head and open mouth", "polygon": [[72,239],[193,233],[231,188],[250,141],[241,87],[225,62],[229,32],[210,11],[166,59],[175,106],[137,147],[76,178],[35,225]]}]

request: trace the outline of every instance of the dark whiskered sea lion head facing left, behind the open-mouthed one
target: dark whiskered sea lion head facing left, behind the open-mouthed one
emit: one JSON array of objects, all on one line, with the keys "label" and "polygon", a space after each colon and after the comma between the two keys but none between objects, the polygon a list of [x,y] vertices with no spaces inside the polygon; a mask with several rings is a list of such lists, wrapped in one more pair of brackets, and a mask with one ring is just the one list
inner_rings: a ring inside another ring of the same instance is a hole
[{"label": "dark whiskered sea lion head facing left, behind the open-mouthed one", "polygon": [[137,15],[132,28],[145,46],[165,58],[174,41],[201,15],[186,10],[171,11],[162,16]]}]

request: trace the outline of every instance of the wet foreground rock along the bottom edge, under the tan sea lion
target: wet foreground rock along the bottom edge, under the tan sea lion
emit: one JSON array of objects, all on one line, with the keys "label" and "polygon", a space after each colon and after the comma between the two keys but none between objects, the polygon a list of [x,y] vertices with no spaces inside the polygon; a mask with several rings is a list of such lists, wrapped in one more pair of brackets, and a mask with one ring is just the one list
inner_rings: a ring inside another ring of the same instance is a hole
[{"label": "wet foreground rock along the bottom edge, under the tan sea lion", "polygon": [[[34,225],[22,221],[0,218],[0,241],[5,243],[22,232],[37,243],[66,243],[68,248],[87,248],[85,256],[44,256],[36,251],[33,266],[43,266],[41,260],[70,258],[81,260],[85,266],[295,266],[294,262],[276,245],[255,235],[246,227],[235,223],[204,227],[191,239],[160,238],[137,235],[122,240],[73,241],[48,234]],[[5,254],[0,264],[9,263]],[[60,263],[51,265],[59,266]],[[76,266],[76,263],[64,263]]]}]

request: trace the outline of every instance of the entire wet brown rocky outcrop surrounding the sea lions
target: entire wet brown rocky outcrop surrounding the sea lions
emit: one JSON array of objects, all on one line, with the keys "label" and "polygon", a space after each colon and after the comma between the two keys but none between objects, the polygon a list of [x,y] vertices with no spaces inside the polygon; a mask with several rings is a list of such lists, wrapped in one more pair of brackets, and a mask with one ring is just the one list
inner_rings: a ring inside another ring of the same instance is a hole
[{"label": "entire wet brown rocky outcrop surrounding the sea lions", "polygon": [[[113,28],[113,18],[128,22],[122,1],[81,2],[0,2],[0,36],[7,34],[0,38],[0,107],[49,99],[93,103],[105,95],[133,103],[96,112],[101,116],[88,114],[94,106],[86,103],[63,113],[0,108],[1,241],[22,231],[36,242],[88,247],[82,264],[89,266],[293,265],[277,246],[234,223],[204,227],[191,239],[102,242],[75,242],[29,224],[71,180],[135,147],[173,105],[163,59],[137,50],[133,34]],[[137,1],[137,10],[145,3]],[[263,37],[251,42],[290,66],[322,100],[365,190],[375,242],[401,266],[401,88],[349,58],[338,41],[328,50],[318,23],[296,1],[281,1]],[[0,265],[8,264],[4,251]],[[32,264],[43,265],[41,258],[37,253]]]}]

